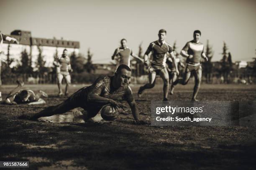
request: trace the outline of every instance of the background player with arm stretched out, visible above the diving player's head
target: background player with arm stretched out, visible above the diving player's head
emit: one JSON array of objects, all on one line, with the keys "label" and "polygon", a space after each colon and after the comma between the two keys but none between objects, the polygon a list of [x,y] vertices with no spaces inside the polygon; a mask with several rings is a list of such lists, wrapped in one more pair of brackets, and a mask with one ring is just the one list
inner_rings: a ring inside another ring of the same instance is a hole
[{"label": "background player with arm stretched out, visible above the diving player's head", "polygon": [[115,56],[120,57],[120,62],[119,65],[124,64],[130,67],[130,55],[138,60],[140,60],[141,62],[143,62],[143,60],[138,57],[136,54],[133,53],[133,51],[131,50],[131,48],[126,46],[127,40],[125,40],[124,38],[120,41],[121,43],[121,47],[118,47],[117,49],[115,49],[114,54],[112,55],[112,60],[115,59]]}]

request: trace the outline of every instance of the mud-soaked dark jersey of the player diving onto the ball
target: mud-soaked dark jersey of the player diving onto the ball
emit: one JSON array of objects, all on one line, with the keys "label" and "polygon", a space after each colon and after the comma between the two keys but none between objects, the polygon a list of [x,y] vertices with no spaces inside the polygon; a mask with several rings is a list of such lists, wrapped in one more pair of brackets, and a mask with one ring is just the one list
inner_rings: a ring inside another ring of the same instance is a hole
[{"label": "mud-soaked dark jersey of the player diving onto the ball", "polygon": [[92,94],[98,94],[101,97],[106,97],[113,100],[118,100],[120,97],[123,97],[126,101],[132,102],[134,98],[131,87],[127,85],[125,87],[115,89],[110,83],[112,79],[113,76],[101,76],[92,85],[81,88],[70,97],[75,98],[72,100],[77,100],[80,105],[90,104],[90,95]]}]

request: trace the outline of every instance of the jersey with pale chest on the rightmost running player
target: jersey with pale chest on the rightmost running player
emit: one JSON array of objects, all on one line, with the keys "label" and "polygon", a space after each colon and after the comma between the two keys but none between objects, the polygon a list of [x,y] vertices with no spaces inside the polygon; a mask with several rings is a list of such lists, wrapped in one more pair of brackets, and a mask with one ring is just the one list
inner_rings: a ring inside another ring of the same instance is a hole
[{"label": "jersey with pale chest on the rightmost running player", "polygon": [[200,63],[201,55],[204,52],[204,45],[201,42],[194,42],[189,41],[187,44],[182,48],[182,50],[186,51],[188,55],[193,55],[191,59],[187,57],[188,64],[197,64]]}]

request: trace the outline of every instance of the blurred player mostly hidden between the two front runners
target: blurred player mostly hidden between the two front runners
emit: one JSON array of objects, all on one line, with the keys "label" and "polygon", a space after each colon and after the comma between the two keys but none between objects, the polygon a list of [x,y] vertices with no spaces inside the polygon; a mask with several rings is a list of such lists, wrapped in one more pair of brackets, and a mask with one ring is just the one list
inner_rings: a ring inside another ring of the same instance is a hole
[{"label": "blurred player mostly hidden between the two front runners", "polygon": [[[185,67],[185,65],[181,62],[179,57],[177,57],[177,53],[175,51],[174,51],[174,55],[176,56],[175,57],[175,62],[177,64],[179,73],[181,73],[182,69]],[[167,68],[167,71],[169,73],[169,83],[172,85],[173,82],[177,80],[179,75],[177,75],[176,68],[174,66],[174,63],[173,63],[171,57],[168,57],[167,60],[166,60],[166,68]],[[170,90],[170,95],[173,95],[173,90],[174,90],[174,87]]]}]

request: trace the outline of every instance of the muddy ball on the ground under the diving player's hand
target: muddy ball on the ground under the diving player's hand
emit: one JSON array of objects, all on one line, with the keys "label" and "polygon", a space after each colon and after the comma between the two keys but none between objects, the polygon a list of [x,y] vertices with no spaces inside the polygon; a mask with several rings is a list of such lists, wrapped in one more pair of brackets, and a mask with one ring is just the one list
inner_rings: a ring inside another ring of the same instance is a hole
[{"label": "muddy ball on the ground under the diving player's hand", "polygon": [[104,120],[115,120],[119,115],[119,110],[111,105],[105,105],[102,107],[100,115]]}]

